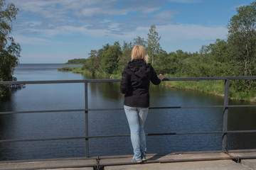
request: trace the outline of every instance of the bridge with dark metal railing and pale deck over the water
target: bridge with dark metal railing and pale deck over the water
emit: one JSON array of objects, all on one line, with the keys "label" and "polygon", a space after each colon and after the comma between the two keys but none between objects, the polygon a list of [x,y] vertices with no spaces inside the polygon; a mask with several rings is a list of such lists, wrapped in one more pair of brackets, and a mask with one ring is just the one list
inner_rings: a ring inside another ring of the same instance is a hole
[{"label": "bridge with dark metal railing and pale deck over the water", "polygon": [[90,111],[118,111],[123,108],[88,108],[88,89],[90,83],[119,82],[119,79],[87,79],[87,80],[63,80],[63,81],[1,81],[0,85],[9,84],[85,84],[85,108],[73,110],[48,110],[48,111],[4,111],[0,115],[20,113],[52,113],[52,112],[85,112],[85,136],[62,137],[43,139],[20,139],[0,140],[4,142],[28,142],[46,140],[75,140],[85,139],[85,157],[68,159],[40,159],[40,160],[17,160],[0,162],[0,169],[256,169],[256,149],[227,150],[227,135],[230,133],[255,133],[256,130],[228,130],[228,108],[255,107],[256,105],[229,105],[228,92],[230,80],[255,80],[256,77],[194,77],[194,78],[166,78],[164,81],[201,81],[223,80],[225,82],[224,103],[222,106],[167,106],[149,109],[178,109],[178,108],[223,108],[223,130],[214,132],[169,132],[151,133],[147,136],[158,135],[199,135],[199,134],[222,134],[222,147],[220,151],[209,152],[180,152],[168,154],[149,154],[147,162],[142,164],[132,163],[132,155],[99,156],[90,157],[89,140],[101,137],[127,137],[124,135],[98,135],[90,136],[88,131],[88,114]]}]

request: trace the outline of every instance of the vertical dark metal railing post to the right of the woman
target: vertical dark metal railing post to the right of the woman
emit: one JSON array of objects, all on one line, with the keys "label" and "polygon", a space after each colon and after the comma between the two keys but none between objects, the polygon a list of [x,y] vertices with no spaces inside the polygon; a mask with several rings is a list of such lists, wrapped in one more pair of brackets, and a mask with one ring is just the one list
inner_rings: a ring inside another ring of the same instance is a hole
[{"label": "vertical dark metal railing post to the right of the woman", "polygon": [[223,140],[222,140],[223,152],[227,152],[227,133],[225,131],[228,131],[228,91],[229,91],[229,79],[225,79],[224,108],[223,108]]}]

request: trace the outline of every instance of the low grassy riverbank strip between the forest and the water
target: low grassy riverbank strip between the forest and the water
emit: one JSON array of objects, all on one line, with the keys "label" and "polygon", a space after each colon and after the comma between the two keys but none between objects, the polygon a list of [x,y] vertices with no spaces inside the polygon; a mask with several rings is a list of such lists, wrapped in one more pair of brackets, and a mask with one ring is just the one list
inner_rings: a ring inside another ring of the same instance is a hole
[{"label": "low grassy riverbank strip between the forest and the water", "polygon": [[[82,67],[63,67],[58,69],[60,72],[73,72],[77,74],[92,75]],[[96,72],[95,77],[102,77],[104,79],[121,79],[120,74],[112,74],[107,76],[104,73]],[[164,77],[173,77],[166,74]],[[224,96],[225,86],[223,80],[210,80],[210,81],[163,81],[162,85],[170,88],[186,89],[193,91],[200,91],[202,93],[211,94],[215,96]],[[250,101],[256,103],[256,91],[236,91],[233,86],[229,89],[229,98],[238,101]]]}]

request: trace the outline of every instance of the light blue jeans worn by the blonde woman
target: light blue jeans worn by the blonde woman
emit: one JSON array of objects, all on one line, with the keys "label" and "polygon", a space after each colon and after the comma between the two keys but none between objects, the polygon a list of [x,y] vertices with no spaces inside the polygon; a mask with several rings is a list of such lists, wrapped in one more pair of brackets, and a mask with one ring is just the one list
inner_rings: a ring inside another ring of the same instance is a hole
[{"label": "light blue jeans worn by the blonde woman", "polygon": [[136,108],[124,106],[125,114],[131,131],[132,147],[134,149],[134,158],[142,159],[146,156],[146,136],[144,132],[144,123],[149,108]]}]

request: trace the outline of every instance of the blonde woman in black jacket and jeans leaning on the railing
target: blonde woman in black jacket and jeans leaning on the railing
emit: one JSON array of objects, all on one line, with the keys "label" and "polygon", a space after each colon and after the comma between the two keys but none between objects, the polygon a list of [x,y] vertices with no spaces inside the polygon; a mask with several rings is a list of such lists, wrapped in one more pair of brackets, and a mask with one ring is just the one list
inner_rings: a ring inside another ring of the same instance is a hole
[{"label": "blonde woman in black jacket and jeans leaning on the railing", "polygon": [[151,81],[158,85],[164,79],[162,74],[157,77],[151,64],[147,64],[148,60],[144,47],[135,45],[132,49],[132,61],[122,72],[120,85],[134,149],[132,162],[138,163],[146,161],[144,123],[149,111],[149,83]]}]

